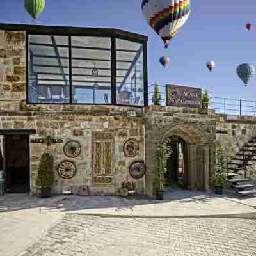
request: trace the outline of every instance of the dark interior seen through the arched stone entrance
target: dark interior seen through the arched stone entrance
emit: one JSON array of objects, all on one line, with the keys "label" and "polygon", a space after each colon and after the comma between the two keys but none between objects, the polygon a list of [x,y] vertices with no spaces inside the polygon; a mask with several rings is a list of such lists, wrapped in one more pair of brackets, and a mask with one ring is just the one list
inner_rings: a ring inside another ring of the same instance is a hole
[{"label": "dark interior seen through the arched stone entrance", "polygon": [[180,186],[181,188],[187,188],[187,147],[186,142],[178,136],[170,137],[170,143],[172,147],[172,155],[167,159],[167,172],[165,173],[166,186]]}]

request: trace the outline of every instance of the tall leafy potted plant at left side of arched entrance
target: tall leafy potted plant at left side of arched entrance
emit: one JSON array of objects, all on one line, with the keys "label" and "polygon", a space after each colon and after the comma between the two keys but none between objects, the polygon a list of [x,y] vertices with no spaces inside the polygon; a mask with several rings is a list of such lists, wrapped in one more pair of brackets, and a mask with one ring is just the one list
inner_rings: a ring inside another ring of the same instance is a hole
[{"label": "tall leafy potted plant at left side of arched entrance", "polygon": [[168,145],[170,141],[166,140],[161,147],[157,148],[154,156],[154,182],[153,187],[157,200],[163,200],[164,195],[164,173],[166,173],[166,161],[172,154],[172,148]]}]

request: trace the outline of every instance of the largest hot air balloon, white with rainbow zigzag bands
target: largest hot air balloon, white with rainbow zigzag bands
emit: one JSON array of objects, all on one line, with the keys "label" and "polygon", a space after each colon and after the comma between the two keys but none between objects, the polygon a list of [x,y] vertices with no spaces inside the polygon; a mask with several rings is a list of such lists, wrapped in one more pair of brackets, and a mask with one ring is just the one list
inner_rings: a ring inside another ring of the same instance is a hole
[{"label": "largest hot air balloon, white with rainbow zigzag bands", "polygon": [[143,0],[143,15],[165,45],[184,25],[190,14],[190,0]]}]

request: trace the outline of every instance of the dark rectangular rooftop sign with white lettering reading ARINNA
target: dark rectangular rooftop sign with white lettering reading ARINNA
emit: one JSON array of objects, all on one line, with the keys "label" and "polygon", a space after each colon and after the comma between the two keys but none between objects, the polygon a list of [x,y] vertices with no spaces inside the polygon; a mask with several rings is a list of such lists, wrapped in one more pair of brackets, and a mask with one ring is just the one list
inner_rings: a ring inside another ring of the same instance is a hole
[{"label": "dark rectangular rooftop sign with white lettering reading ARINNA", "polygon": [[200,88],[166,84],[166,106],[200,108]]}]

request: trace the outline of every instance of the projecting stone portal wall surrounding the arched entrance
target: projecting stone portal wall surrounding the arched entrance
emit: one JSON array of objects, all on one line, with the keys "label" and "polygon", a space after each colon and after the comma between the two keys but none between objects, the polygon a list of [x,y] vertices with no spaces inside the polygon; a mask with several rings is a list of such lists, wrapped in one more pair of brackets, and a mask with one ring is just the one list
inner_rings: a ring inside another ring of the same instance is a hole
[{"label": "projecting stone portal wall surrounding the arched entrance", "polygon": [[147,194],[153,193],[154,154],[170,136],[179,136],[188,147],[188,189],[210,189],[214,172],[216,117],[214,111],[195,108],[149,106],[145,108],[145,159]]}]

